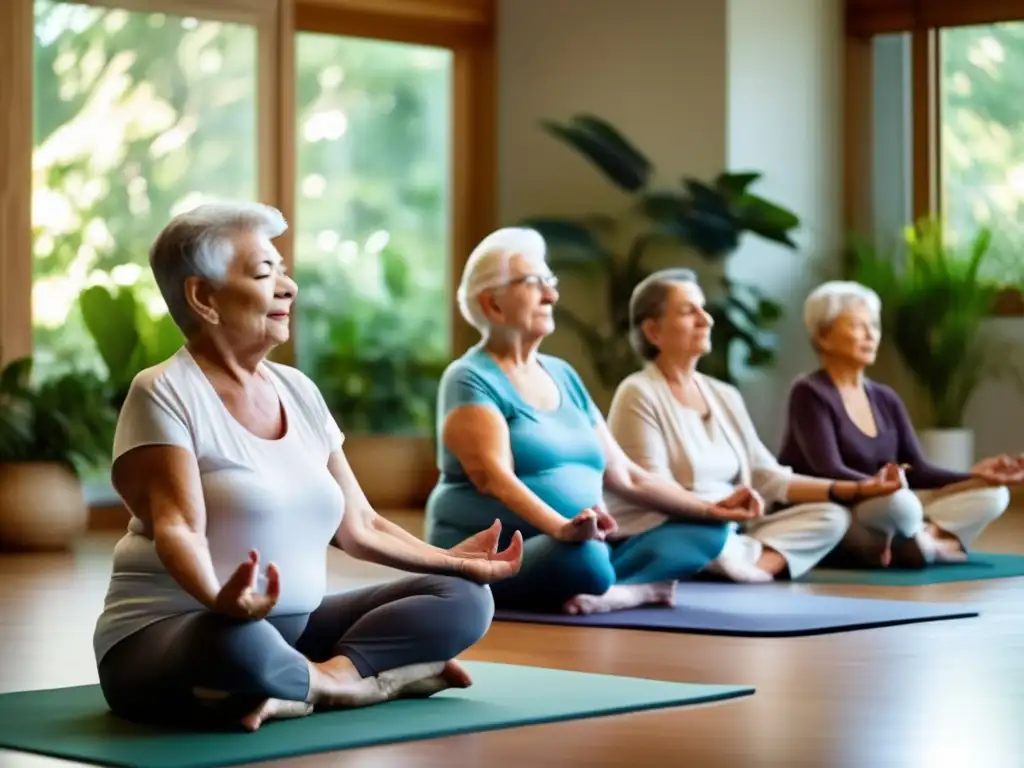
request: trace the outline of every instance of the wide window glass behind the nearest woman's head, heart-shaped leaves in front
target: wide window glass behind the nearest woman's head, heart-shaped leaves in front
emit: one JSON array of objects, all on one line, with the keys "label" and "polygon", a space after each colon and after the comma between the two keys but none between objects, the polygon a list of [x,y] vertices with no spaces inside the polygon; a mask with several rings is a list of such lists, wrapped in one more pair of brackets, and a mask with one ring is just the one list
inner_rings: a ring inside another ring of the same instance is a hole
[{"label": "wide window glass behind the nearest woman's head, heart-shaped leaves in front", "polygon": [[35,11],[37,371],[92,369],[117,397],[180,343],[147,267],[154,237],[204,199],[257,197],[257,34],[52,0]]}]

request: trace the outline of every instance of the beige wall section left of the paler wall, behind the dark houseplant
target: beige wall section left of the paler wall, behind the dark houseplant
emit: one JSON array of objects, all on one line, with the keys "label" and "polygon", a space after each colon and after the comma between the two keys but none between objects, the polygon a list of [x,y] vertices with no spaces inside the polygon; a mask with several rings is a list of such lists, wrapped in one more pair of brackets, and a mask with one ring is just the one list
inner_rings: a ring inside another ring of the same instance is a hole
[{"label": "beige wall section left of the paler wall, behind the dark houseplant", "polygon": [[[500,0],[501,222],[614,213],[629,202],[547,135],[538,124],[545,118],[589,112],[608,120],[651,158],[658,182],[719,172],[726,155],[725,34],[718,0]],[[562,300],[599,316],[601,302],[582,286],[566,285]],[[598,386],[570,332],[556,333],[545,351],[577,366],[598,404],[607,404],[610,393]]]}]

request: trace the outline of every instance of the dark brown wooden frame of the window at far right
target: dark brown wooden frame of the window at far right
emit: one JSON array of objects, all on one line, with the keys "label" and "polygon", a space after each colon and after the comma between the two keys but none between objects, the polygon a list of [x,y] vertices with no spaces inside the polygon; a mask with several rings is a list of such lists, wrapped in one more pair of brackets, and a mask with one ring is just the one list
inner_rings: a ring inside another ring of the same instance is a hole
[{"label": "dark brown wooden frame of the window at far right", "polygon": [[[848,0],[849,1],[849,0]],[[853,2],[850,5],[856,5]],[[970,8],[946,6],[942,1],[919,3],[931,15],[908,9],[902,0],[889,5],[874,0],[874,15],[847,14],[844,67],[844,219],[848,229],[870,232],[871,159],[873,146],[872,40],[886,33],[910,35],[911,99],[911,215],[914,219],[942,210],[941,179],[941,31],[961,26],[1024,20],[1024,4],[1002,0],[979,1]],[[909,6],[908,6],[909,7]],[[946,15],[943,15],[946,13]],[[941,23],[941,24],[939,24]],[[1024,294],[1007,288],[993,309],[996,316],[1024,316]]]}]

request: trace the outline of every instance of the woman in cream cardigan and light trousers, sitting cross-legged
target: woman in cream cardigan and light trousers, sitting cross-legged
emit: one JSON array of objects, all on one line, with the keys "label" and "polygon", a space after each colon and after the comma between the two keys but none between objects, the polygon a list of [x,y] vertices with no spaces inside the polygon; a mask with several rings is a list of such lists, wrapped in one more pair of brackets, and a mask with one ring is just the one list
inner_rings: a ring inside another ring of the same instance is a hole
[{"label": "woman in cream cardigan and light trousers, sitting cross-legged", "polygon": [[[757,512],[741,523],[718,523],[730,530],[706,571],[744,583],[797,579],[843,540],[848,505],[900,488],[899,468],[854,482],[781,466],[758,436],[739,391],[696,371],[711,350],[712,325],[692,271],[662,270],[640,283],[630,300],[630,342],[645,365],[620,384],[608,426],[648,471],[708,502]],[[622,536],[671,518],[611,493],[606,504]]]}]

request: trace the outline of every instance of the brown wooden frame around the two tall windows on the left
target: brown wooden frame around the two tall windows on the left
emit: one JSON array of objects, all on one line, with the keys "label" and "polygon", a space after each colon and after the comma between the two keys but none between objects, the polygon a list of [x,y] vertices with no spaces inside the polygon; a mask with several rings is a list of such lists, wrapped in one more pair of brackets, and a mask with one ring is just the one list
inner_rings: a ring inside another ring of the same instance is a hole
[{"label": "brown wooden frame around the two tall windows on the left", "polygon": [[[259,39],[259,198],[295,212],[296,32],[321,32],[446,47],[454,53],[452,295],[465,259],[497,220],[495,0],[71,0],[131,11],[252,24]],[[0,111],[33,109],[33,0],[0,2]],[[0,121],[0,360],[32,353],[31,121]],[[294,236],[280,250],[294,263]],[[453,354],[474,339],[452,301]],[[286,345],[279,358],[294,361]]]}]

